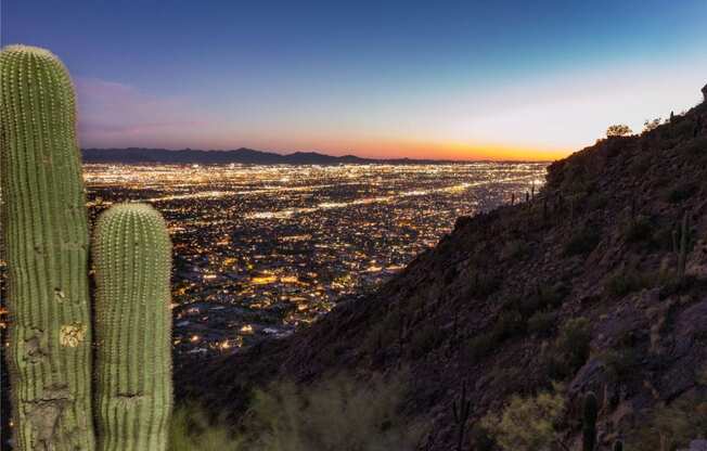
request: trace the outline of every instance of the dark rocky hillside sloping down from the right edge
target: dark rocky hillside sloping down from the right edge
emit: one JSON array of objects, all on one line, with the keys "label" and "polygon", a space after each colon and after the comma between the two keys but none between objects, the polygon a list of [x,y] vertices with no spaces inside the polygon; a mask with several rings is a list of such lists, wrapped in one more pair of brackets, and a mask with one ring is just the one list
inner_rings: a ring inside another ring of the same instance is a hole
[{"label": "dark rocky hillside sloping down from the right edge", "polygon": [[[252,387],[274,377],[309,384],[408,368],[406,412],[432,422],[425,449],[448,450],[462,381],[474,420],[555,379],[570,407],[587,390],[599,394],[606,443],[698,389],[707,362],[705,180],[707,104],[641,137],[602,140],[553,164],[529,203],[460,218],[374,295],[288,339],[182,362],[180,395],[237,417]],[[681,282],[673,246],[683,214]],[[567,436],[577,433],[568,423]]]}]

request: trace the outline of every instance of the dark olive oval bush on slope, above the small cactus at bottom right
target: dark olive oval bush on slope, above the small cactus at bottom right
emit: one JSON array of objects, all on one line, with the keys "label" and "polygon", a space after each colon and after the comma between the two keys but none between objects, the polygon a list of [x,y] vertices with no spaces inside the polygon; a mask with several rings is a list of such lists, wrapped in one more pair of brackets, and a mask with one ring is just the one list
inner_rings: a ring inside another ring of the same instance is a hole
[{"label": "dark olive oval bush on slope, above the small cactus at bottom right", "polygon": [[586,318],[576,318],[563,324],[547,357],[550,377],[564,379],[574,375],[589,358],[591,339],[591,326]]}]

